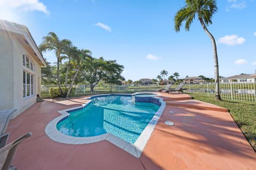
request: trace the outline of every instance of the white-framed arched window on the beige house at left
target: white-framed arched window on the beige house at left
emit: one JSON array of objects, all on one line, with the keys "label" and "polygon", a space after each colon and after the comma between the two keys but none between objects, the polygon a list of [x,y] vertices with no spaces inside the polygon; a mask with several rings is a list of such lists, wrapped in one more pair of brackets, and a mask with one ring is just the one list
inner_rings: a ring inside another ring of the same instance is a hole
[{"label": "white-framed arched window on the beige house at left", "polygon": [[27,98],[35,94],[35,75],[29,71],[34,71],[35,66],[27,55],[23,55],[23,66],[27,67],[23,68],[23,98]]}]

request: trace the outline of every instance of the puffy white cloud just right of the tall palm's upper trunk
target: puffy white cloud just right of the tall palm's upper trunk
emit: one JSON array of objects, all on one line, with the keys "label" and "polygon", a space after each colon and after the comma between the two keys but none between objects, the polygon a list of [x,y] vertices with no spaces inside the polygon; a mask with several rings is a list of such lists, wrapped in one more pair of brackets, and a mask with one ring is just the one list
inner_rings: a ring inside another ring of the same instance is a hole
[{"label": "puffy white cloud just right of the tall palm's upper trunk", "polygon": [[228,46],[241,45],[245,42],[243,37],[238,37],[237,35],[224,36],[219,38],[218,43],[226,44]]}]

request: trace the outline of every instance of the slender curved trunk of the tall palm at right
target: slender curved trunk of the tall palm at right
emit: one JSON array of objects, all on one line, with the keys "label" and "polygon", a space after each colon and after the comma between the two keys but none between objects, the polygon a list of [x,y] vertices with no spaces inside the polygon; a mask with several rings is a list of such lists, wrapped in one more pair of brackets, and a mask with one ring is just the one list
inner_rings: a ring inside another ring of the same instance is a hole
[{"label": "slender curved trunk of the tall palm at right", "polygon": [[211,32],[206,28],[203,19],[200,17],[198,19],[199,19],[205,33],[207,34],[207,36],[210,37],[210,39],[212,41],[213,59],[214,59],[214,75],[215,75],[215,99],[221,100],[221,98],[220,98],[220,82],[219,82],[219,62],[218,62],[216,42],[215,42],[215,39],[214,39],[213,35],[211,34]]}]

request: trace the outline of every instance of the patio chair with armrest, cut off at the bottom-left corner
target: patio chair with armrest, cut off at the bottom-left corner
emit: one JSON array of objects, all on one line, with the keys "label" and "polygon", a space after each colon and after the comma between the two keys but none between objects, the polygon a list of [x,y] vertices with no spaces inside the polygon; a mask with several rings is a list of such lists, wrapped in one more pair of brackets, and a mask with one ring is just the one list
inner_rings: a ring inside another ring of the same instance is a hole
[{"label": "patio chair with armrest, cut off at the bottom-left corner", "polygon": [[[1,142],[3,140],[3,143],[6,144],[7,138],[9,134],[4,134],[1,138]],[[16,154],[17,148],[23,140],[27,139],[32,135],[32,132],[28,132],[25,135],[22,135],[22,137],[14,140],[13,142],[9,143],[8,145],[2,146],[1,143],[0,147],[0,169],[1,170],[8,170],[10,168],[10,165],[12,163],[12,160]],[[6,137],[7,136],[7,137]],[[12,169],[15,169],[12,167]]]}]

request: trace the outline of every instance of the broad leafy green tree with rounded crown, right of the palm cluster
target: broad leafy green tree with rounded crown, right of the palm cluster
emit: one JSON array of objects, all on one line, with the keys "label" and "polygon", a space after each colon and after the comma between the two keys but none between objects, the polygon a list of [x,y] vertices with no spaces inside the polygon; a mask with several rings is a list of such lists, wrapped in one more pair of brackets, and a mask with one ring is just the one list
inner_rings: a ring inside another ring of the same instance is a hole
[{"label": "broad leafy green tree with rounded crown, right of the palm cluster", "polygon": [[89,82],[91,92],[101,81],[113,83],[124,80],[121,76],[124,66],[116,63],[115,60],[106,61],[103,57],[88,58],[81,67],[81,77]]}]

